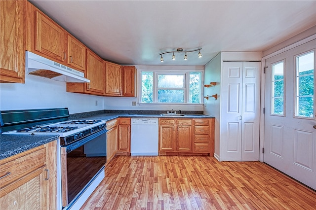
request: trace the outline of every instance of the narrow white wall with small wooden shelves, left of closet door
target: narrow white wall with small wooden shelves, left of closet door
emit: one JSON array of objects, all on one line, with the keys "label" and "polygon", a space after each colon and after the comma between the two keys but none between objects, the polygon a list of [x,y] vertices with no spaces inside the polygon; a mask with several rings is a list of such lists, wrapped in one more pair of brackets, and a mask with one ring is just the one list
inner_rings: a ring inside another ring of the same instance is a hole
[{"label": "narrow white wall with small wooden shelves, left of closet door", "polygon": [[220,125],[220,99],[221,99],[221,68],[222,68],[222,53],[216,55],[204,68],[204,84],[216,82],[213,87],[204,87],[204,96],[212,96],[217,93],[217,100],[210,97],[208,101],[204,100],[204,114],[215,117],[215,142],[214,142],[214,156],[219,159],[219,125]]}]

